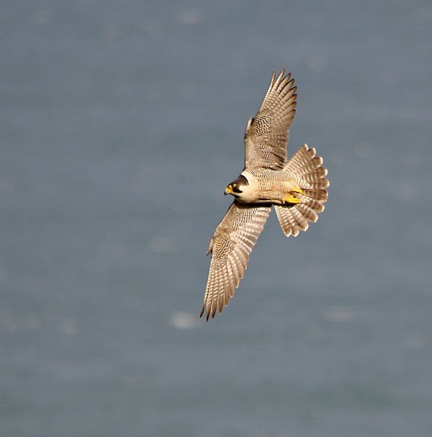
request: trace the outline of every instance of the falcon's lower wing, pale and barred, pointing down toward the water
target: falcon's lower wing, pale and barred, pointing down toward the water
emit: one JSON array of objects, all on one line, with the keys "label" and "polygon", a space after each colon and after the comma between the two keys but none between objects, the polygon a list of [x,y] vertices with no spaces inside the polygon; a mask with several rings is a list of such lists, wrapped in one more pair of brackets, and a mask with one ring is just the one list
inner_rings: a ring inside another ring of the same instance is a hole
[{"label": "falcon's lower wing, pale and barred, pointing down toward the water", "polygon": [[271,206],[234,201],[217,225],[207,252],[212,254],[212,259],[200,314],[202,316],[206,309],[206,320],[210,313],[214,317],[217,309],[222,312],[229,298],[234,296],[270,210]]}]

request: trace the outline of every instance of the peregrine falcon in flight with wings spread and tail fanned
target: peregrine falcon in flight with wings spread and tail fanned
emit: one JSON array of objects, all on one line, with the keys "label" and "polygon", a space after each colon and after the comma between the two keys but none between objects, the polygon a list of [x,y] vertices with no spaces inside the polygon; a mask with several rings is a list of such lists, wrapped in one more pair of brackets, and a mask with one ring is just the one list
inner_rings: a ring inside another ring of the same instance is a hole
[{"label": "peregrine falcon in flight with wings spread and tail fanned", "polygon": [[282,231],[298,236],[324,210],[329,182],[323,159],[304,144],[286,159],[288,132],[297,105],[297,86],[285,69],[275,72],[263,103],[245,131],[245,169],[225,188],[234,201],[208,245],[211,254],[200,316],[206,320],[234,296],[249,254],[275,206]]}]

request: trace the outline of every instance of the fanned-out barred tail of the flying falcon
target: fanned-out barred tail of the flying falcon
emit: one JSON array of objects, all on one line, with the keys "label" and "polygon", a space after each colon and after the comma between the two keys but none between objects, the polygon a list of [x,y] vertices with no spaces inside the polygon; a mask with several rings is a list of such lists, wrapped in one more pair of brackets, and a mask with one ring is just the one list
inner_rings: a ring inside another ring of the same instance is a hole
[{"label": "fanned-out barred tail of the flying falcon", "polygon": [[290,206],[275,206],[282,231],[288,237],[298,236],[300,231],[306,231],[309,223],[318,220],[318,213],[324,210],[327,201],[329,181],[327,169],[323,167],[323,159],[315,156],[315,149],[304,144],[289,160],[284,171],[289,171],[301,181],[303,193],[300,194],[300,204]]}]

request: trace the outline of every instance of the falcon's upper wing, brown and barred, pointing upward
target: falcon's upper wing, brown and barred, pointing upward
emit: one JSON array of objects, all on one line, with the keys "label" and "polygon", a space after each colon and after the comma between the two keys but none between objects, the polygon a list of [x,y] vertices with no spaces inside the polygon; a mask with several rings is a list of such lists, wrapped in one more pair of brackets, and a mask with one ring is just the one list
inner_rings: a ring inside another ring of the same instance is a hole
[{"label": "falcon's upper wing, brown and barred, pointing upward", "polygon": [[291,73],[282,69],[272,80],[255,118],[250,118],[245,132],[245,168],[281,169],[286,162],[286,144],[295,115],[297,86]]}]

